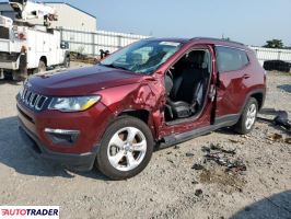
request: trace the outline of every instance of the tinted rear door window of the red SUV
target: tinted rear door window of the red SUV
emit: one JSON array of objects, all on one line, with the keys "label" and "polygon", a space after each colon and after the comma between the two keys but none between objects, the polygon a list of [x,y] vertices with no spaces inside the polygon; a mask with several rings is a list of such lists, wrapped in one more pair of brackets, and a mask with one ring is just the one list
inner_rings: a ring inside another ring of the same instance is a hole
[{"label": "tinted rear door window of the red SUV", "polygon": [[223,72],[240,70],[248,65],[249,60],[244,50],[219,46],[217,62],[219,71]]}]

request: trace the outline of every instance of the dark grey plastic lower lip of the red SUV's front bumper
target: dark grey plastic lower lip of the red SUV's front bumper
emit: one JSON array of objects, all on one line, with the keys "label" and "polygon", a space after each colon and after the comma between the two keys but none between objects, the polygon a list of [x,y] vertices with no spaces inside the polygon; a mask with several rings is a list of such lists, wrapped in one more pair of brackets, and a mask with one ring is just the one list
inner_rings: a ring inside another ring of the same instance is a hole
[{"label": "dark grey plastic lower lip of the red SUV's front bumper", "polygon": [[81,154],[54,152],[48,150],[21,120],[19,124],[21,137],[35,158],[44,158],[77,171],[92,170],[98,147],[95,148],[95,151]]}]

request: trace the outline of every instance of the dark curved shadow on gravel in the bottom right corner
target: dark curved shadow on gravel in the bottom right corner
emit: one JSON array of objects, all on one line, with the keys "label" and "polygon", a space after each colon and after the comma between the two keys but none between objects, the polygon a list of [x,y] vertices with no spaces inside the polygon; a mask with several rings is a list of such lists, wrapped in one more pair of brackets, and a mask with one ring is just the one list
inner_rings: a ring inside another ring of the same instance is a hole
[{"label": "dark curved shadow on gravel in the bottom right corner", "polygon": [[231,219],[290,219],[291,218],[291,191],[276,194],[256,201]]}]

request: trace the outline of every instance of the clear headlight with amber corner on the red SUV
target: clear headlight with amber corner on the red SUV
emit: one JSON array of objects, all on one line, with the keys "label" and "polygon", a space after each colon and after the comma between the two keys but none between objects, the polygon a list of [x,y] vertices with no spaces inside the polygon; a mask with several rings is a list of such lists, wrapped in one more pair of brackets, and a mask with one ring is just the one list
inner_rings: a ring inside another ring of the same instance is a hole
[{"label": "clear headlight with amber corner on the red SUV", "polygon": [[73,96],[73,97],[54,97],[48,106],[49,110],[61,112],[86,111],[101,100],[100,95]]}]

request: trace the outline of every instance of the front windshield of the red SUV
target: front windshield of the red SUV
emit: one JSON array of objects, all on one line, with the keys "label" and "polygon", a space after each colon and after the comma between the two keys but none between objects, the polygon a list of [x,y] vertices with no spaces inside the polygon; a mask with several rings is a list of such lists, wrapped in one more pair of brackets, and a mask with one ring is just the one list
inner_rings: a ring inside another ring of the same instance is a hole
[{"label": "front windshield of the red SUV", "polygon": [[101,61],[102,66],[150,74],[181,47],[181,43],[140,41]]}]

